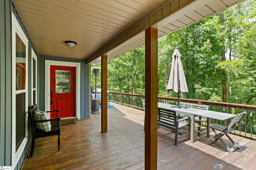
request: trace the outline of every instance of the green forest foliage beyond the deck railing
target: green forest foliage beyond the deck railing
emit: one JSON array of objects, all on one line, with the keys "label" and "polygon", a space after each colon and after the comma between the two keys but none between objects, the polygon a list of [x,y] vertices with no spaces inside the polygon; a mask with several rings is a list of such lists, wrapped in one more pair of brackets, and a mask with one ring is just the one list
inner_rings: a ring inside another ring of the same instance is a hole
[{"label": "green forest foliage beyond the deck railing", "polygon": [[[177,97],[166,93],[174,49],[182,54],[188,85],[183,98],[256,105],[255,0],[158,39],[158,96]],[[144,45],[108,60],[108,91],[145,94]]]}]

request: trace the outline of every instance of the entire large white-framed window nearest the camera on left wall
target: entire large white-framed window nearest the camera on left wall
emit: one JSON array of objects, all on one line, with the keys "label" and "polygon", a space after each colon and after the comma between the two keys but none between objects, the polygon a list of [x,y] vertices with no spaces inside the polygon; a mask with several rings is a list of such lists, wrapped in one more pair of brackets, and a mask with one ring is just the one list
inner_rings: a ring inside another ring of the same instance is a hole
[{"label": "entire large white-framed window nearest the camera on left wall", "polygon": [[12,167],[28,141],[28,39],[12,13]]}]

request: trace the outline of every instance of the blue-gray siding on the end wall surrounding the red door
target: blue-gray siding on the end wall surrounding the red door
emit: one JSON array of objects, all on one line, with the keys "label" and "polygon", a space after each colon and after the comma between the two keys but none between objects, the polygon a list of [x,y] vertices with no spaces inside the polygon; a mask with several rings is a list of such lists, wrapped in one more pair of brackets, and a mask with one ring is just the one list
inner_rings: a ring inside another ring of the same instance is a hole
[{"label": "blue-gray siding on the end wall surrounding the red door", "polygon": [[[53,57],[53,56],[45,56],[45,55],[39,55],[38,57],[38,108],[45,108],[45,60],[50,61],[65,61],[65,62],[74,62],[74,63],[80,63],[81,64],[81,72],[80,72],[80,118],[89,118],[89,99],[88,96],[89,93],[89,87],[88,82],[89,78],[87,75],[89,75],[89,65],[86,64],[86,60],[82,59],[73,59],[73,58],[66,58],[66,57]],[[43,82],[43,83],[42,83]],[[79,113],[78,113],[79,114]]]}]

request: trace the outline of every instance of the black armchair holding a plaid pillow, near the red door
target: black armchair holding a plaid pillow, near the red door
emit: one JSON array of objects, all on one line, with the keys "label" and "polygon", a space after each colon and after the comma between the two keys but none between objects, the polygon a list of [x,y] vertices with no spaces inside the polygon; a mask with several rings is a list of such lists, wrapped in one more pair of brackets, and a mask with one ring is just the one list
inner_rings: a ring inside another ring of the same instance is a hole
[{"label": "black armchair holding a plaid pillow, near the red door", "polygon": [[[54,119],[35,121],[34,114],[36,110],[37,110],[37,106],[34,105],[31,107],[30,111],[28,111],[28,116],[29,116],[31,131],[32,131],[32,146],[31,146],[31,151],[29,156],[30,158],[33,155],[34,147],[35,147],[35,139],[37,138],[58,135],[58,150],[60,150],[60,118],[58,117],[59,111],[58,110],[46,111],[46,113],[56,111],[56,118]],[[38,127],[36,126],[36,123],[44,123],[44,122],[50,122],[51,124],[50,131],[48,132],[42,131],[38,129]]]}]

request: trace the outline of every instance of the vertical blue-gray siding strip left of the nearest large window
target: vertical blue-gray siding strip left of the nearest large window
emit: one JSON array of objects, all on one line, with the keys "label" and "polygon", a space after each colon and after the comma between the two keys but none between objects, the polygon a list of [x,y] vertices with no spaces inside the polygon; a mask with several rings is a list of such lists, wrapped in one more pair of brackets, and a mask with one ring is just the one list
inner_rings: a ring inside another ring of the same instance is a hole
[{"label": "vertical blue-gray siding strip left of the nearest large window", "polygon": [[[6,15],[7,14],[7,15]],[[0,1],[0,165],[11,165],[10,0]],[[7,135],[8,134],[8,135]]]}]

